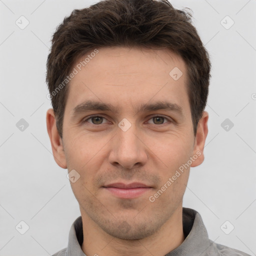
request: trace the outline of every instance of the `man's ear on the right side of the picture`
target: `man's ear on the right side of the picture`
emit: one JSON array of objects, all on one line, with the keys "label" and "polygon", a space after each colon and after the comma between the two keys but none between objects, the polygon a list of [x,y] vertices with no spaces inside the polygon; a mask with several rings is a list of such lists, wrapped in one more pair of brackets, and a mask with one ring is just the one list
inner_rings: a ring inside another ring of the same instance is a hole
[{"label": "man's ear on the right side of the picture", "polygon": [[203,111],[202,117],[197,124],[193,155],[197,155],[198,157],[192,162],[191,167],[195,167],[201,164],[204,160],[203,147],[204,147],[206,136],[208,134],[208,125],[207,125],[208,117],[209,117],[208,113],[206,111]]}]

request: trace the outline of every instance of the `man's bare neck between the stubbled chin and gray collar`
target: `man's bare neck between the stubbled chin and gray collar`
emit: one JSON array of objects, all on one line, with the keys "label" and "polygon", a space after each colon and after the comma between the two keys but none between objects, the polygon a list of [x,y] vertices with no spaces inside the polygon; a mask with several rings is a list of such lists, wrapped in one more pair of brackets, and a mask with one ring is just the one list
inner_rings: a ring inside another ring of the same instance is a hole
[{"label": "man's bare neck between the stubbled chin and gray collar", "polygon": [[182,204],[155,233],[136,240],[113,237],[103,231],[86,214],[81,216],[83,225],[81,249],[87,256],[164,256],[185,239],[182,226]]}]

